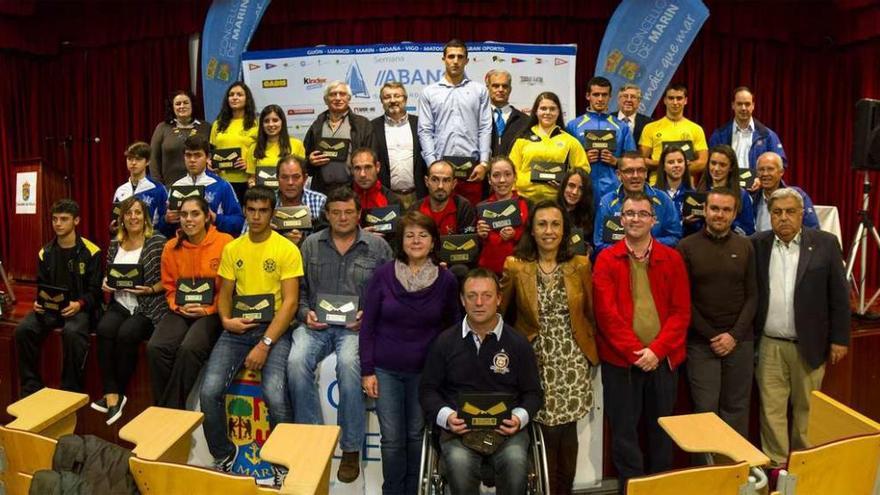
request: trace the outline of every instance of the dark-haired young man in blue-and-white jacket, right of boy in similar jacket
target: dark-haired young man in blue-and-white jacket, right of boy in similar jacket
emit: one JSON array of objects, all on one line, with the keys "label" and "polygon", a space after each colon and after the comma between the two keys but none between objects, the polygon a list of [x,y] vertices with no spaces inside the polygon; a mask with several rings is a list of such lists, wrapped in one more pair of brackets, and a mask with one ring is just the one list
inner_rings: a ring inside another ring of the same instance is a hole
[{"label": "dark-haired young man in blue-and-white jacket, right of boy in similar jacket", "polygon": [[[208,171],[208,156],[211,152],[211,143],[202,136],[195,135],[186,138],[183,142],[183,161],[186,165],[186,175],[171,185],[172,193],[175,186],[205,186],[205,200],[211,207],[211,220],[220,232],[226,232],[232,237],[241,234],[244,225],[244,215],[235,191],[228,182],[219,175]],[[162,233],[166,237],[174,235],[180,226],[180,217],[176,210],[170,208],[165,213],[165,224]]]}]

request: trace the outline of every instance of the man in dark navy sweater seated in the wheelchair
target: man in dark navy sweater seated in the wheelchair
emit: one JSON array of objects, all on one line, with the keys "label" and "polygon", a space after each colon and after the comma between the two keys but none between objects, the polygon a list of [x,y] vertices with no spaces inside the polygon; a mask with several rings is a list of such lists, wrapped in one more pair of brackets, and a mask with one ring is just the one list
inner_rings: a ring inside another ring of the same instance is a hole
[{"label": "man in dark navy sweater seated in the wheelchair", "polygon": [[544,394],[528,340],[497,313],[494,273],[471,270],[461,286],[467,316],[434,341],[419,399],[427,421],[442,428],[440,450],[453,494],[479,492],[484,458],[499,494],[526,493],[529,418]]}]

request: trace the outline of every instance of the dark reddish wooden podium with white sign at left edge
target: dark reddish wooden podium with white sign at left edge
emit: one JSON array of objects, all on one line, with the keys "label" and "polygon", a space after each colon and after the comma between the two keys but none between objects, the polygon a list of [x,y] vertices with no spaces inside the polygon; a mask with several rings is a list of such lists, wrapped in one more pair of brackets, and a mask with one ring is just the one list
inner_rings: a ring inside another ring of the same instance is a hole
[{"label": "dark reddish wooden podium with white sign at left edge", "polygon": [[[52,231],[52,217],[49,211],[52,203],[65,195],[64,176],[53,169],[42,158],[28,158],[12,162],[16,177],[21,172],[36,172],[37,183],[31,185],[30,194],[36,194],[37,213],[18,214],[13,209],[9,235],[12,236],[12,249],[6,266],[9,275],[16,280],[35,281],[37,279],[37,253],[55,233]],[[17,180],[13,179],[13,184]],[[16,191],[16,195],[18,191]]]}]

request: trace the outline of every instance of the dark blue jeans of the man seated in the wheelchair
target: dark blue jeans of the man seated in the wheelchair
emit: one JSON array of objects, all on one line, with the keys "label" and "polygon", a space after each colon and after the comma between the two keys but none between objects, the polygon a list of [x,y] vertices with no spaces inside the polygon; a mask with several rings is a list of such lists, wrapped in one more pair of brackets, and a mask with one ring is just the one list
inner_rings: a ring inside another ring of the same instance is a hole
[{"label": "dark blue jeans of the man seated in the wheelchair", "polygon": [[[381,389],[380,389],[381,393]],[[480,465],[483,456],[461,443],[461,438],[440,442],[446,478],[452,495],[480,493]],[[384,459],[383,459],[384,464]],[[524,495],[529,470],[529,432],[525,429],[505,441],[489,464],[495,471],[495,493]]]}]

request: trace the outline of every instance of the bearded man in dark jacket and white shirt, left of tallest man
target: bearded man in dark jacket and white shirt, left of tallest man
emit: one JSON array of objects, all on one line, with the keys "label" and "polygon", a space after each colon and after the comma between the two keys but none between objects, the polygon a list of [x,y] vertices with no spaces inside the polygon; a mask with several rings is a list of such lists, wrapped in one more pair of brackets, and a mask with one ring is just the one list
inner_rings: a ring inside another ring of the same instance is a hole
[{"label": "bearded man in dark jacket and white shirt, left of tallest man", "polygon": [[376,155],[382,164],[379,180],[391,189],[404,208],[409,208],[416,199],[428,195],[427,169],[419,145],[419,119],[406,113],[407,94],[403,84],[385,83],[379,90],[379,98],[385,114],[370,121]]}]

